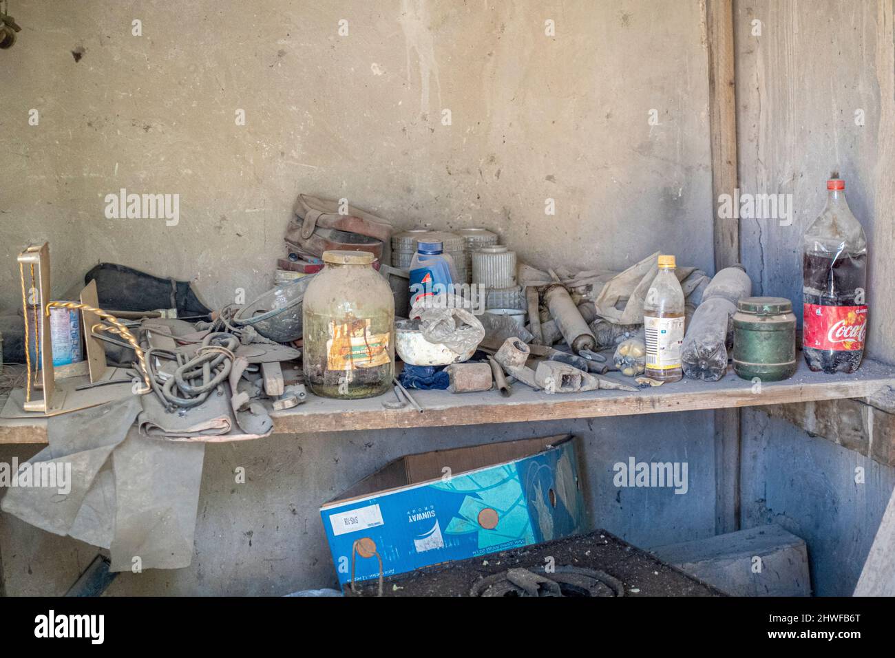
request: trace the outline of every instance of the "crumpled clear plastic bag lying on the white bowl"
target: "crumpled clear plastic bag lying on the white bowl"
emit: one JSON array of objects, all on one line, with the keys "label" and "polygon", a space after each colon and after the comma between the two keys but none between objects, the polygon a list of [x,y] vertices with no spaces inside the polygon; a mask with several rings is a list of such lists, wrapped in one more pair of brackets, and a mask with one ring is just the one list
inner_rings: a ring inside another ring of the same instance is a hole
[{"label": "crumpled clear plastic bag lying on the white bowl", "polygon": [[467,310],[468,306],[469,302],[457,295],[422,297],[413,304],[410,317],[420,319],[422,338],[440,343],[456,355],[465,355],[485,338],[482,322]]}]

